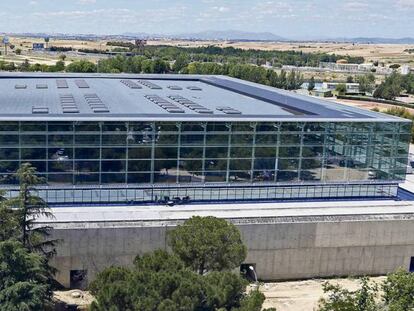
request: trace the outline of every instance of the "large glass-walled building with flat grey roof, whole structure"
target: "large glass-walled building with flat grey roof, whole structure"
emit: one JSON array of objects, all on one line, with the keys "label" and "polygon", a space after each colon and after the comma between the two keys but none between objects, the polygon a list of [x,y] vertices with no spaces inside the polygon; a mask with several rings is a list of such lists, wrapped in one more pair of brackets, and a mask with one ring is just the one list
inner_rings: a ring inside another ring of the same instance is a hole
[{"label": "large glass-walled building with flat grey roof, whole structure", "polygon": [[0,75],[0,184],[51,204],[395,197],[411,122],[223,76]]}]

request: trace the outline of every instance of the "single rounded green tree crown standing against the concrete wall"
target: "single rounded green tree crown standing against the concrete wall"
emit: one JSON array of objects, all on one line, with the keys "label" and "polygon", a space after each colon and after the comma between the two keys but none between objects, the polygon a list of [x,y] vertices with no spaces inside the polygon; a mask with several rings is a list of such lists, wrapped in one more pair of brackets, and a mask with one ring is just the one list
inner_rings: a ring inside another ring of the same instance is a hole
[{"label": "single rounded green tree crown standing against the concrete wall", "polygon": [[174,254],[193,271],[230,270],[246,258],[240,231],[224,219],[192,217],[169,232]]}]

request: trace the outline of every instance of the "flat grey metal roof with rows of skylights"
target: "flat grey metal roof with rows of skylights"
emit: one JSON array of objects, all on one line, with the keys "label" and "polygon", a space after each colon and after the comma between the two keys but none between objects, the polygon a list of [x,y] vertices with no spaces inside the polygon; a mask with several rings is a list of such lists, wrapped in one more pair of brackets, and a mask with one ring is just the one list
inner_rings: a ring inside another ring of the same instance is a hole
[{"label": "flat grey metal roof with rows of skylights", "polygon": [[60,73],[0,73],[0,120],[407,121],[225,76]]}]

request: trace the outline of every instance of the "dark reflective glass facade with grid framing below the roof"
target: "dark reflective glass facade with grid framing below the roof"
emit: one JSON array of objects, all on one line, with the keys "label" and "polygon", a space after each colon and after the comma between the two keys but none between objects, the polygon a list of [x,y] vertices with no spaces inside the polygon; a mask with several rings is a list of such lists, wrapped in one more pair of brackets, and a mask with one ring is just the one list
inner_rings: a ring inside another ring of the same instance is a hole
[{"label": "dark reflective glass facade with grid framing below the roof", "polygon": [[0,184],[15,184],[24,162],[50,189],[396,184],[405,178],[410,129],[409,122],[1,122]]}]

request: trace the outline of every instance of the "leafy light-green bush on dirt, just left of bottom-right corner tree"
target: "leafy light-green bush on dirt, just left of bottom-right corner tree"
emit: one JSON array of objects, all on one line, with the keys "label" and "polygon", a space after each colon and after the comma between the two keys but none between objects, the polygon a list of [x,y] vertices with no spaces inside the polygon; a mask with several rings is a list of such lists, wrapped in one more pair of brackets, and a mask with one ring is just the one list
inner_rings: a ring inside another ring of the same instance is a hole
[{"label": "leafy light-green bush on dirt, just left of bottom-right corner tree", "polygon": [[375,302],[378,286],[370,284],[366,277],[361,278],[360,285],[358,290],[349,291],[339,285],[324,283],[323,291],[328,297],[319,300],[319,311],[378,311],[380,307]]}]

